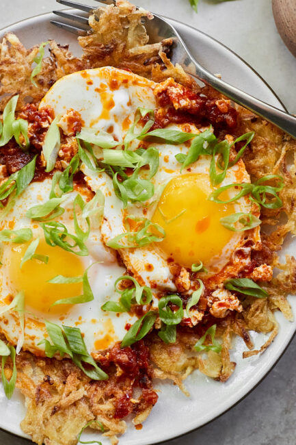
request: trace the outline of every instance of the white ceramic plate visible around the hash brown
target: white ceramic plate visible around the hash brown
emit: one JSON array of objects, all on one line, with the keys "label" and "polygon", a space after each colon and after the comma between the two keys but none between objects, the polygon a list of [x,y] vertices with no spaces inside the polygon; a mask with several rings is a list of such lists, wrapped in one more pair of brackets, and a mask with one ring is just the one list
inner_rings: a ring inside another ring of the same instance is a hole
[{"label": "white ceramic plate visible around the hash brown", "polygon": [[[29,18],[2,29],[1,34],[14,31],[26,47],[54,38],[61,44],[69,43],[71,51],[79,54],[80,48],[75,36],[53,27],[49,23],[52,18],[53,14]],[[176,21],[172,23],[187,42],[193,55],[213,73],[221,73],[226,81],[283,109],[282,103],[265,81],[236,54],[196,29]],[[293,253],[293,250],[296,250],[296,242],[287,243],[283,253]],[[296,314],[296,298],[291,298],[290,301]],[[196,371],[186,381],[190,398],[185,397],[175,385],[158,382],[157,388],[161,390],[159,401],[144,422],[143,429],[137,431],[131,424],[126,434],[121,437],[120,444],[151,445],[172,439],[210,422],[240,401],[265,377],[293,338],[296,322],[286,321],[280,313],[277,314],[277,319],[280,323],[280,333],[263,355],[243,360],[241,355],[245,346],[241,339],[237,339],[232,351],[232,359],[237,362],[237,368],[228,382],[218,383]],[[252,337],[256,347],[260,347],[265,341],[263,335],[254,333]],[[0,387],[0,428],[25,437],[19,427],[24,416],[25,407],[21,394],[16,391],[12,400],[8,401]],[[102,439],[97,433],[91,432],[85,434],[84,440]],[[104,439],[102,442],[109,443]]]}]

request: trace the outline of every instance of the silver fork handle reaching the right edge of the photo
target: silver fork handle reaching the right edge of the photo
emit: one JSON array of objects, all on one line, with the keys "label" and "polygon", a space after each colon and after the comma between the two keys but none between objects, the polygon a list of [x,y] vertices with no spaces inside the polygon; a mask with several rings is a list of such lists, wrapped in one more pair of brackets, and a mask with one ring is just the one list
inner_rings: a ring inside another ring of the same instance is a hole
[{"label": "silver fork handle reaching the right edge of the photo", "polygon": [[199,79],[213,86],[215,90],[225,94],[225,96],[232,99],[232,101],[239,103],[239,105],[258,114],[258,116],[269,120],[269,122],[277,125],[277,127],[284,130],[290,136],[293,136],[293,138],[296,138],[296,118],[294,116],[256,99],[256,97],[239,90],[239,88],[235,86],[227,84],[224,80],[209,73],[206,68],[198,64],[192,57],[191,62],[193,62],[196,68],[196,76]]}]

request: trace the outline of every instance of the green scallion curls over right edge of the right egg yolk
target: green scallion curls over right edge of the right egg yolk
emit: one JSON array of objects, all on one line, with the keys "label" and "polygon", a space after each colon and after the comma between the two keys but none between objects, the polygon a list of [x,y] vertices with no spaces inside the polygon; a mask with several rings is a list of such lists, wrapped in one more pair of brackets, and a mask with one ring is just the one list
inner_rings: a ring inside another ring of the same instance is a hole
[{"label": "green scallion curls over right edge of the right egg yolk", "polygon": [[[277,179],[279,181],[278,186],[275,187],[263,186],[264,182],[270,181],[271,179]],[[252,194],[252,198],[259,205],[262,205],[267,209],[279,209],[280,207],[282,207],[282,200],[280,199],[280,196],[278,196],[277,192],[282,190],[283,187],[284,187],[284,179],[281,176],[267,175],[258,179],[258,181],[256,181],[254,184],[232,183],[228,184],[228,186],[220,187],[217,190],[215,190],[215,192],[211,193],[210,196],[208,196],[208,200],[214,201],[215,203],[227,204],[237,201],[237,199],[241,198],[242,196],[245,196],[246,194]],[[230,199],[227,200],[219,199],[221,193],[231,188],[233,188],[234,190],[236,188],[241,188],[241,190],[239,191],[238,194],[236,194]]]}]

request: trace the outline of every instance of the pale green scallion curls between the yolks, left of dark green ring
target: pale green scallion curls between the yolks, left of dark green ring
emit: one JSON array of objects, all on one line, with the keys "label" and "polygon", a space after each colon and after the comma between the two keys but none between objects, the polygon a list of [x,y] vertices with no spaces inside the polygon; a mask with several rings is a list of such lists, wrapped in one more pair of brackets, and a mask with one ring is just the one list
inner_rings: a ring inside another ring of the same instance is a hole
[{"label": "pale green scallion curls between the yolks, left of dark green ring", "polygon": [[[126,288],[124,290],[118,289],[118,283],[122,280],[130,280],[133,282],[133,288]],[[148,286],[141,286],[137,282],[137,280],[129,275],[122,275],[119,277],[114,284],[116,292],[120,294],[120,300],[117,303],[116,301],[107,301],[101,309],[103,311],[111,311],[111,312],[129,312],[131,309],[131,304],[138,305],[148,305],[152,300],[152,290],[148,288]]]}]

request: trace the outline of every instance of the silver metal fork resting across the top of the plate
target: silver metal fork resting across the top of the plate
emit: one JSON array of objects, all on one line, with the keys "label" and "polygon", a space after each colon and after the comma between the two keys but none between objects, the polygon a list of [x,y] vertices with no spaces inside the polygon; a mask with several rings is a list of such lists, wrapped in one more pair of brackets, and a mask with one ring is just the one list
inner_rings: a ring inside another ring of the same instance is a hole
[{"label": "silver metal fork resting across the top of the plate", "polygon": [[[116,0],[96,0],[98,3],[103,5],[106,4],[116,4]],[[77,10],[81,10],[85,12],[85,16],[80,16],[77,14],[69,14],[64,11],[53,11],[54,14],[66,18],[75,23],[75,25],[69,23],[63,23],[59,21],[51,21],[53,25],[58,27],[62,27],[67,31],[74,32],[78,35],[85,35],[90,29],[88,27],[88,16],[92,14],[94,8],[92,6],[83,5],[81,3],[76,3],[75,1],[70,0],[57,0],[58,3],[62,3],[62,5],[70,6],[70,8],[75,8]],[[278,110],[256,97],[247,94],[239,90],[238,88],[227,84],[222,79],[219,79],[217,76],[210,73],[204,66],[202,66],[198,60],[193,58],[189,49],[183,42],[183,39],[180,37],[174,26],[172,26],[168,21],[154,14],[154,18],[152,20],[145,20],[145,27],[150,38],[150,43],[161,42],[161,40],[165,38],[173,39],[173,47],[172,47],[172,63],[180,64],[183,66],[183,69],[192,75],[193,77],[198,77],[198,79],[202,80],[205,84],[209,84],[215,88],[215,90],[225,94],[227,97],[232,99],[234,102],[239,103],[243,107],[247,108],[258,116],[269,120],[269,122],[277,125],[280,129],[286,131],[286,133],[296,138],[296,118],[291,114],[283,112],[282,110]]]}]

